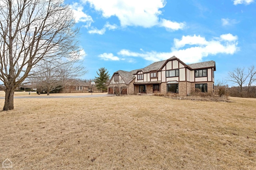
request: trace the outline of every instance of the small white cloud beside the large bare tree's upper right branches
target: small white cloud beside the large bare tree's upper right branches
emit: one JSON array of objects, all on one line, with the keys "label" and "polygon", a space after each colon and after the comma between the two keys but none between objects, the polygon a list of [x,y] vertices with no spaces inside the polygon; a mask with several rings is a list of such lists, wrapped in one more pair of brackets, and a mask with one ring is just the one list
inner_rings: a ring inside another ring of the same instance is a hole
[{"label": "small white cloud beside the large bare tree's upper right branches", "polygon": [[72,9],[74,13],[74,17],[76,22],[86,22],[87,26],[90,26],[91,23],[93,22],[92,17],[85,14],[83,10],[83,6],[81,4],[78,4],[77,2],[70,5],[70,8]]}]

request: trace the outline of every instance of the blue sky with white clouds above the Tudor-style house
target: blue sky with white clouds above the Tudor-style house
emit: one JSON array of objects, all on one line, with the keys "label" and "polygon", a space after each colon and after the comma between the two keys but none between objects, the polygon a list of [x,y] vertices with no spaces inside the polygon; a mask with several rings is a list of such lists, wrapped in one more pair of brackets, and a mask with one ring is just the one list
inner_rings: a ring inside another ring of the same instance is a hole
[{"label": "blue sky with white clouds above the Tudor-style house", "polygon": [[80,28],[83,64],[140,69],[175,55],[184,63],[216,61],[215,79],[256,65],[254,0],[65,0]]}]

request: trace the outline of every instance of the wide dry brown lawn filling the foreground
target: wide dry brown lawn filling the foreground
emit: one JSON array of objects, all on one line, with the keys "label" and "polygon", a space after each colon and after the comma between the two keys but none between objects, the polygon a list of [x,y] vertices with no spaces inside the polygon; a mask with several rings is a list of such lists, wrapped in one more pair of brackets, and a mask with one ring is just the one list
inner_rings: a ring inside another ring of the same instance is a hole
[{"label": "wide dry brown lawn filling the foreground", "polygon": [[256,99],[230,99],[14,99],[13,111],[0,112],[0,163],[9,158],[12,169],[27,170],[256,169]]}]

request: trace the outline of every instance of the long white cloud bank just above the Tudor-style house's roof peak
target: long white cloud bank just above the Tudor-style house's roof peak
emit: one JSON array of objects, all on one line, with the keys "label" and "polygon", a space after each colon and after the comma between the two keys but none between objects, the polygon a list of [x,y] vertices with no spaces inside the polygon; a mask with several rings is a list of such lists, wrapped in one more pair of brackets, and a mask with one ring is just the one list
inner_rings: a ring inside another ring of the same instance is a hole
[{"label": "long white cloud bank just above the Tudor-style house's roof peak", "polygon": [[[180,40],[174,39],[174,47],[170,52],[156,52],[148,51],[144,53],[132,52],[127,49],[122,49],[118,52],[119,55],[130,57],[142,57],[149,61],[161,61],[168,59],[172,56],[180,58],[185,63],[196,63],[202,61],[203,57],[208,55],[217,54],[234,54],[239,50],[236,41],[237,36],[232,34],[223,34],[219,38],[207,41],[201,36],[182,36]],[[192,47],[182,48],[185,45],[191,45]]]}]

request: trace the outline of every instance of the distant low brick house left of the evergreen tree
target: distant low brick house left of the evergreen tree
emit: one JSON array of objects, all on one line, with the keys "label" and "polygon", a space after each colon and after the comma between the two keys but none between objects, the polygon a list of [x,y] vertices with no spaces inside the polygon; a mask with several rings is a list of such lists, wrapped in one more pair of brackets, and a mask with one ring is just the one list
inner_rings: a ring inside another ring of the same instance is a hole
[{"label": "distant low brick house left of the evergreen tree", "polygon": [[90,83],[84,83],[81,81],[70,80],[66,83],[66,85],[62,89],[62,93],[84,93],[90,92],[92,89],[92,85]]}]

